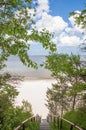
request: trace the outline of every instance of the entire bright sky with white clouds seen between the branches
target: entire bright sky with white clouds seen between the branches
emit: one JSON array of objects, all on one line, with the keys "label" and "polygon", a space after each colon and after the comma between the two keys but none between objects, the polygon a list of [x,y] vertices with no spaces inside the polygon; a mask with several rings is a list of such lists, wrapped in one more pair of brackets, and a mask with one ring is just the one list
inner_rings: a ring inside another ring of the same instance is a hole
[{"label": "entire bright sky with white clouds seen between the branches", "polygon": [[[75,25],[74,17],[69,17],[70,12],[80,12],[84,9],[85,3],[86,0],[38,0],[36,28],[39,31],[46,28],[50,33],[54,33],[52,41],[57,45],[58,52],[66,52],[67,46],[67,53],[77,53],[77,47],[86,38],[86,35],[82,35],[84,30]],[[30,54],[40,55],[47,52],[41,44],[32,43]]]}]

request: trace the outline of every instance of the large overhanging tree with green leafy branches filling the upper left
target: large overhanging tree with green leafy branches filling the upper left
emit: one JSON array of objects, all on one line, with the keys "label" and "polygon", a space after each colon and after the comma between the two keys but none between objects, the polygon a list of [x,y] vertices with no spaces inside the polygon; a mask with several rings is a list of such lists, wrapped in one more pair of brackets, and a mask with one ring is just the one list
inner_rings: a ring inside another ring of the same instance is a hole
[{"label": "large overhanging tree with green leafy branches filling the upper left", "polygon": [[51,41],[52,34],[35,29],[35,7],[32,0],[0,0],[0,61],[7,60],[10,55],[18,55],[23,64],[36,67],[28,56],[29,41],[40,42],[45,49],[56,50]]}]

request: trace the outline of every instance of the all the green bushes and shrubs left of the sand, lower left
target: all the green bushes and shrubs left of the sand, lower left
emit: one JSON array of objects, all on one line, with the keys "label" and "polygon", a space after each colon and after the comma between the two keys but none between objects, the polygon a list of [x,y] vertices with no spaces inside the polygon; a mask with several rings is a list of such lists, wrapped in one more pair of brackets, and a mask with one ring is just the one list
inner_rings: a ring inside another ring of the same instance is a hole
[{"label": "all the green bushes and shrubs left of the sand, lower left", "polygon": [[0,75],[0,129],[10,130],[23,120],[32,116],[31,104],[23,100],[21,107],[14,106],[18,91],[15,86],[7,83],[10,75]]}]

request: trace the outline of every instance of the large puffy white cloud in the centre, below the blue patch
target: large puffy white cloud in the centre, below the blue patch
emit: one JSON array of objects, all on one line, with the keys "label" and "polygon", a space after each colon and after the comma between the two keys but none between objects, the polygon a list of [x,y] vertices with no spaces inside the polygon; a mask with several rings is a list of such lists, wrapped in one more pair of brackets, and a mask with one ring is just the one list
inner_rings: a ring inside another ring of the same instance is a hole
[{"label": "large puffy white cloud in the centre, below the blue patch", "polygon": [[46,12],[42,14],[42,18],[36,23],[36,28],[42,30],[46,28],[50,32],[59,33],[67,27],[67,23],[60,16],[51,16]]}]

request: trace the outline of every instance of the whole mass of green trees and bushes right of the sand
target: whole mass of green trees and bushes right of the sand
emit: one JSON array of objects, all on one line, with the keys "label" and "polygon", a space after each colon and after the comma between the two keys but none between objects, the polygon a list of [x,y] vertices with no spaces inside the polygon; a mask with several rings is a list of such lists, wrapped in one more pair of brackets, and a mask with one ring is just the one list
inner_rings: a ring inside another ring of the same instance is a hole
[{"label": "whole mass of green trees and bushes right of the sand", "polygon": [[[52,84],[52,88],[49,88],[46,93],[49,114],[63,117],[65,113],[69,113],[64,117],[70,115],[67,119],[72,119],[70,121],[85,128],[85,116],[80,119],[85,114],[86,108],[85,62],[80,61],[80,56],[53,54],[46,57],[44,66],[51,71],[52,77],[56,79],[56,83]],[[81,106],[81,109],[84,109],[83,112],[80,111]],[[83,123],[81,123],[82,121]],[[68,123],[66,125],[64,121],[62,121],[62,125],[65,130],[70,128],[70,125]],[[51,127],[52,129],[58,128],[54,124],[51,124]]]}]

